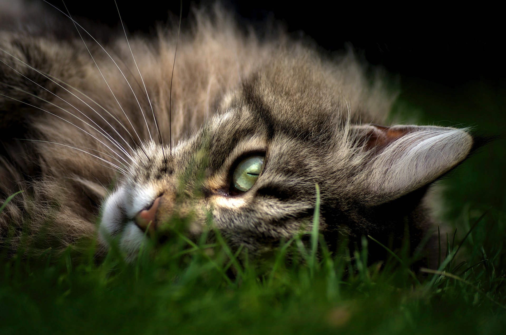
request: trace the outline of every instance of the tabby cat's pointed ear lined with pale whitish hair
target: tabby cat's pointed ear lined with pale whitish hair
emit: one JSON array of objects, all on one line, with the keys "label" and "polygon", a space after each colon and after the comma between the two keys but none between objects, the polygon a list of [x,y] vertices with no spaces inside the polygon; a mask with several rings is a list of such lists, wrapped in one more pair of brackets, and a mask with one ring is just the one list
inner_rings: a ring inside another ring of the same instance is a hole
[{"label": "tabby cat's pointed ear lined with pale whitish hair", "polygon": [[466,159],[473,137],[462,129],[368,124],[356,126],[367,151],[363,182],[371,200],[382,203],[423,187]]}]

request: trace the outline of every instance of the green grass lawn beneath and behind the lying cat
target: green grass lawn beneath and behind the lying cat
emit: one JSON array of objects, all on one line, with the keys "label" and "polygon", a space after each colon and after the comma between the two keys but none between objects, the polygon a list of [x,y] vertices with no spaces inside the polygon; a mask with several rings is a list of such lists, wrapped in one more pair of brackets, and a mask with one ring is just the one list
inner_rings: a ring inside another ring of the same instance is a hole
[{"label": "green grass lawn beneath and behind the lying cat", "polygon": [[[403,88],[399,113],[418,110],[422,122],[495,135],[506,121],[500,83],[450,90],[411,80]],[[234,254],[220,239],[192,244],[182,234],[154,257],[147,246],[134,265],[114,251],[101,264],[93,249],[76,261],[70,248],[29,260],[20,251],[0,265],[0,333],[502,334],[504,144],[488,145],[444,182],[442,215],[457,231],[441,236],[450,257],[436,274],[413,274],[404,249],[392,250],[381,271],[367,266],[366,248],[355,262],[346,243],[331,257],[316,230],[309,245],[294,238],[261,265],[239,262],[244,250]],[[288,252],[304,262],[287,264]]]}]

